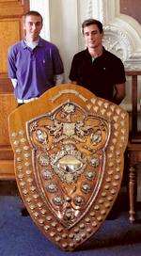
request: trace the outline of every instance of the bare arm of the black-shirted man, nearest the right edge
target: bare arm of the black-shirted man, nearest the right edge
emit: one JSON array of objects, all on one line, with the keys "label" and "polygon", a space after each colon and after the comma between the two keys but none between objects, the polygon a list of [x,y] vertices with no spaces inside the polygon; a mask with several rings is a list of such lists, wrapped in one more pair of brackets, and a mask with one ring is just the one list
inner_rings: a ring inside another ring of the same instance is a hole
[{"label": "bare arm of the black-shirted man, nearest the right edge", "polygon": [[122,100],[125,98],[125,83],[118,84],[115,86],[116,92],[113,98],[114,104],[120,104]]}]

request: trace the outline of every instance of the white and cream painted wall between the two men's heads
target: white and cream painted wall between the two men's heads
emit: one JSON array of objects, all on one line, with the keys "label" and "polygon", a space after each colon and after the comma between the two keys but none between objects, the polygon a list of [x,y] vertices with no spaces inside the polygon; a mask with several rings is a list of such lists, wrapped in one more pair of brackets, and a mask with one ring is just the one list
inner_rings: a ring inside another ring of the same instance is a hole
[{"label": "white and cream painted wall between the two men's heads", "polygon": [[78,51],[77,0],[30,0],[30,9],[38,10],[43,17],[40,36],[58,47],[68,82],[71,58]]}]

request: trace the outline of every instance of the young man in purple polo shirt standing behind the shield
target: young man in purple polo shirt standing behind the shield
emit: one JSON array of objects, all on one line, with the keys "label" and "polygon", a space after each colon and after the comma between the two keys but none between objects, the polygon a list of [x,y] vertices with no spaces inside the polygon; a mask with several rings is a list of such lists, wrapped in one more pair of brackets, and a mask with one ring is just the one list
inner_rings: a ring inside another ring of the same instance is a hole
[{"label": "young man in purple polo shirt standing behind the shield", "polygon": [[39,37],[42,17],[38,11],[24,15],[24,40],[8,51],[8,77],[18,104],[38,98],[48,88],[63,83],[63,63],[55,44]]}]

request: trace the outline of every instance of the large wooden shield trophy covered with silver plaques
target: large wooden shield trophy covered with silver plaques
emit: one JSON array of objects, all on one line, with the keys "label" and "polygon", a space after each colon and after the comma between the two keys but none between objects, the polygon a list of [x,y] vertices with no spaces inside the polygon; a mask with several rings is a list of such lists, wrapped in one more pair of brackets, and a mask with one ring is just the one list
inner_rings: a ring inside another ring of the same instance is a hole
[{"label": "large wooden shield trophy covered with silver plaques", "polygon": [[65,84],[9,116],[15,176],[39,230],[73,250],[97,232],[118,196],[128,114]]}]

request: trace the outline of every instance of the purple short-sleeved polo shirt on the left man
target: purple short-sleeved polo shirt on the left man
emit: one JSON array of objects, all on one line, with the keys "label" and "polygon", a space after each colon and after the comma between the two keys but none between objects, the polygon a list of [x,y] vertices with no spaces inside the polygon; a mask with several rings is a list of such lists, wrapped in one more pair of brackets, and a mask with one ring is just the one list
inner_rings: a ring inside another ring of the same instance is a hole
[{"label": "purple short-sleeved polo shirt on the left man", "polygon": [[24,40],[8,51],[8,77],[16,78],[16,98],[26,100],[39,97],[55,86],[55,75],[63,73],[63,63],[55,44],[39,38],[33,50]]}]

